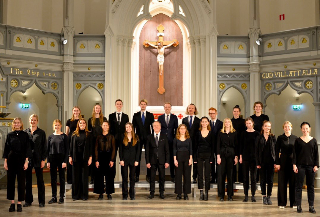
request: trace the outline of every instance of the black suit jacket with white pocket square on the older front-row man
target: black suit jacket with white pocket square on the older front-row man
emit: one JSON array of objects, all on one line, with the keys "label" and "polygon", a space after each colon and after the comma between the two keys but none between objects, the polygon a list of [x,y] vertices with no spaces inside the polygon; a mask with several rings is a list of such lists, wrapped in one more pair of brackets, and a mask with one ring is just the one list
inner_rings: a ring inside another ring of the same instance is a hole
[{"label": "black suit jacket with white pocket square on the older front-row man", "polygon": [[146,155],[146,164],[156,164],[157,163],[157,152],[159,158],[159,164],[164,165],[169,164],[169,144],[168,138],[164,133],[160,133],[158,147],[156,145],[156,140],[154,134],[150,134],[147,137],[147,143],[144,147]]}]

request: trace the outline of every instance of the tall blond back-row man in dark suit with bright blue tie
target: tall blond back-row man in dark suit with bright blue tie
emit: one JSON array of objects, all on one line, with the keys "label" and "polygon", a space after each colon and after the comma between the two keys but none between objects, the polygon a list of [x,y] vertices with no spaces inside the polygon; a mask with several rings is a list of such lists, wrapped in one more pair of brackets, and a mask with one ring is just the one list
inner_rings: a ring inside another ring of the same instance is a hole
[{"label": "tall blond back-row man in dark suit with bright blue tie", "polygon": [[[155,121],[155,117],[152,113],[146,111],[148,101],[146,99],[142,99],[139,102],[141,110],[137,113],[134,113],[132,117],[132,125],[133,125],[133,131],[139,136],[140,140],[140,157],[139,157],[139,165],[136,168],[136,178],[135,182],[139,181],[140,176],[140,162],[141,162],[141,153],[142,153],[142,146],[146,144],[147,136],[151,134],[152,129],[152,123]],[[150,169],[147,169],[147,181],[150,179]]]}]

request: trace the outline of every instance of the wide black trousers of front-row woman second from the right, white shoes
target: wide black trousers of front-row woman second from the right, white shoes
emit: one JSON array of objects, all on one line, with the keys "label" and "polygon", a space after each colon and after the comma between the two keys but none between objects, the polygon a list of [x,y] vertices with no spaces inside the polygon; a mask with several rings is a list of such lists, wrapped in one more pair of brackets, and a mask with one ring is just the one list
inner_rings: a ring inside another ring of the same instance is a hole
[{"label": "wide black trousers of front-row woman second from the right, white shoes", "polygon": [[287,205],[287,184],[289,182],[290,207],[295,206],[296,177],[293,172],[292,155],[281,153],[280,170],[278,171],[278,206]]}]

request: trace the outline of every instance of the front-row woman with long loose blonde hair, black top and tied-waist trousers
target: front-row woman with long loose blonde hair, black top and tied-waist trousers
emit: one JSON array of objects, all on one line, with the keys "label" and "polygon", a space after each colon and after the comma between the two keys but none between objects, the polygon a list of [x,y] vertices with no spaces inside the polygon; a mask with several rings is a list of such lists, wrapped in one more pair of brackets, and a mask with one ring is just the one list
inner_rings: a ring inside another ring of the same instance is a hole
[{"label": "front-row woman with long loose blonde hair, black top and tied-waist trousers", "polygon": [[233,201],[233,165],[238,163],[238,140],[230,118],[223,120],[217,139],[218,196],[224,201],[226,175],[228,180],[228,201]]}]

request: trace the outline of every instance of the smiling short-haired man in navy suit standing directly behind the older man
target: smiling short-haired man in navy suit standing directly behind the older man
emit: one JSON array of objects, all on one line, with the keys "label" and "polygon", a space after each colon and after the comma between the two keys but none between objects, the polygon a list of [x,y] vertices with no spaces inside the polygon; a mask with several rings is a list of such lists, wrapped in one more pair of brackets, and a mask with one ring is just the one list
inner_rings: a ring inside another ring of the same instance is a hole
[{"label": "smiling short-haired man in navy suit standing directly behind the older man", "polygon": [[158,117],[158,121],[161,123],[161,133],[164,133],[168,137],[169,151],[170,151],[170,176],[171,181],[176,182],[174,178],[174,161],[173,161],[173,139],[176,136],[178,128],[178,117],[171,114],[171,103],[166,102],[163,105],[165,114]]}]

